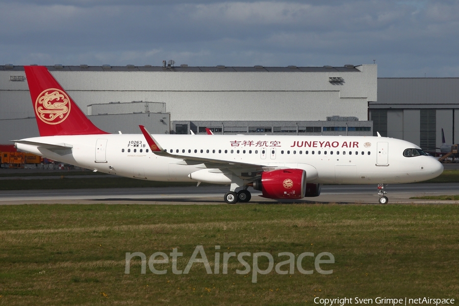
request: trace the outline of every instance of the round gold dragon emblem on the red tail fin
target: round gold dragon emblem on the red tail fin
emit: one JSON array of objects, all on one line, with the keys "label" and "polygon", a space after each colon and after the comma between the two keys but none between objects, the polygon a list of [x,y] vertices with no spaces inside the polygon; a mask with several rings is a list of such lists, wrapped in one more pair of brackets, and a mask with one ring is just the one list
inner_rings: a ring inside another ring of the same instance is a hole
[{"label": "round gold dragon emblem on the red tail fin", "polygon": [[70,98],[60,89],[43,90],[35,101],[35,111],[41,121],[47,124],[59,124],[70,113]]}]

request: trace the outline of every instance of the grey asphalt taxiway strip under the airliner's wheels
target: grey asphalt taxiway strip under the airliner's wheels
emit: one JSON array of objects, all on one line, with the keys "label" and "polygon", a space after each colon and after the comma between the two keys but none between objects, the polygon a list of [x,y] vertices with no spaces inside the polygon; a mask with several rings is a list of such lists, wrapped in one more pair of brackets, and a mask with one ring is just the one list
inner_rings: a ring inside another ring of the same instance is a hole
[{"label": "grey asphalt taxiway strip under the airliner's wheels", "polygon": [[[19,190],[0,191],[0,205],[37,203],[62,204],[224,204],[223,195],[229,186],[164,187],[164,188],[117,188],[117,189],[65,189],[65,190]],[[249,189],[250,203],[272,204],[277,200],[261,197],[261,192]],[[459,194],[459,183],[400,184],[386,189],[389,203],[459,203],[410,199],[423,195]],[[376,185],[324,185],[318,197],[303,198],[296,203],[378,203]]]}]

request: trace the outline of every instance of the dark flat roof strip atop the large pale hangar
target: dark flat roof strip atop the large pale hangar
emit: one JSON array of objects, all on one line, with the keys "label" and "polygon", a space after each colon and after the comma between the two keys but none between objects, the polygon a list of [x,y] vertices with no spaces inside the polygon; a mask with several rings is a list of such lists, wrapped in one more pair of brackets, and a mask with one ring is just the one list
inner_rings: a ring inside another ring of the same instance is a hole
[{"label": "dark flat roof strip atop the large pale hangar", "polygon": [[[253,67],[226,67],[218,65],[216,67],[189,67],[186,65],[171,66],[163,68],[162,66],[64,66],[64,65],[53,65],[46,66],[49,71],[165,71],[165,72],[360,72],[359,69],[353,65],[345,65],[344,67],[264,67],[264,66],[253,66]],[[23,66],[14,65],[3,65],[0,66],[2,71],[23,71]]]}]

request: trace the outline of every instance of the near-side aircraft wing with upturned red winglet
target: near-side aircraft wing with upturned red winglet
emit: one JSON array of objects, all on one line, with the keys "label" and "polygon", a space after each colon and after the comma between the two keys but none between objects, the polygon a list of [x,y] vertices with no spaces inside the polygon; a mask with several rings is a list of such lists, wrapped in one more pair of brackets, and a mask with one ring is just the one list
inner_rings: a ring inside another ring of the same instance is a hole
[{"label": "near-side aircraft wing with upturned red winglet", "polygon": [[250,177],[253,177],[255,173],[260,173],[265,170],[274,170],[278,167],[272,167],[268,165],[262,164],[248,164],[248,163],[241,163],[237,161],[222,161],[218,159],[210,159],[210,158],[202,158],[202,157],[190,157],[184,156],[179,154],[170,154],[161,147],[161,145],[156,141],[153,136],[145,129],[145,126],[139,125],[140,130],[142,131],[143,136],[145,137],[148,146],[150,147],[151,151],[160,156],[166,156],[170,158],[180,159],[181,161],[177,161],[177,164],[182,165],[198,165],[204,164],[206,168],[217,168],[217,169],[227,169],[232,173],[242,177],[246,177],[247,175],[243,175],[244,173],[251,173]]}]

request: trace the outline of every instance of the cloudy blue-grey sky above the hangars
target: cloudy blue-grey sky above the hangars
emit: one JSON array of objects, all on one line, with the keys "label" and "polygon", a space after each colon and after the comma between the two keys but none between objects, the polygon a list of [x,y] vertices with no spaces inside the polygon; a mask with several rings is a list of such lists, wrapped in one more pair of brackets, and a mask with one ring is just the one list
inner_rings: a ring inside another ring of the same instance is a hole
[{"label": "cloudy blue-grey sky above the hangars", "polygon": [[459,77],[459,1],[0,0],[0,64],[343,66]]}]

